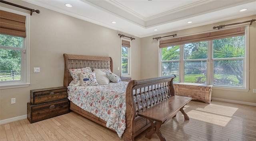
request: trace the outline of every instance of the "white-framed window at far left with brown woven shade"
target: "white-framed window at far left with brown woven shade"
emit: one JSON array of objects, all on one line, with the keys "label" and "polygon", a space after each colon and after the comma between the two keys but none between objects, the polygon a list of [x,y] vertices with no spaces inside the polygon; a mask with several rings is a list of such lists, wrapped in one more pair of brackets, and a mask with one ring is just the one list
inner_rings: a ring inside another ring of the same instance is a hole
[{"label": "white-framed window at far left with brown woven shade", "polygon": [[0,10],[0,89],[29,86],[29,14]]}]

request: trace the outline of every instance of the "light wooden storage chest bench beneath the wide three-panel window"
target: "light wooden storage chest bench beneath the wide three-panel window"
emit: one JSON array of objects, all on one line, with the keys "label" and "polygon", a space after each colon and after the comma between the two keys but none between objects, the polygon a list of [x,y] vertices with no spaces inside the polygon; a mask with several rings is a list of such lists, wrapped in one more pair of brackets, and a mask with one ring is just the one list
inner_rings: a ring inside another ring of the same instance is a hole
[{"label": "light wooden storage chest bench beneath the wide three-panel window", "polygon": [[175,95],[187,96],[192,99],[211,103],[212,85],[198,83],[174,83]]}]

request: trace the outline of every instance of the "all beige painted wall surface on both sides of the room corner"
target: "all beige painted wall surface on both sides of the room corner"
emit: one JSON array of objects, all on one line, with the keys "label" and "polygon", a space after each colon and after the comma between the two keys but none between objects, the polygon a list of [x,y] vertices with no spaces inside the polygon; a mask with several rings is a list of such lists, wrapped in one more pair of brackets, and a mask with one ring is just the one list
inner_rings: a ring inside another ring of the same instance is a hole
[{"label": "all beige painted wall surface on both sides of the room corner", "polygon": [[[27,114],[27,102],[30,101],[30,90],[63,86],[64,59],[63,53],[110,56],[114,62],[114,73],[120,76],[120,38],[113,29],[79,20],[46,8],[23,1],[8,0],[14,4],[40,10],[30,17],[30,86],[0,90],[0,120]],[[2,4],[1,6],[22,12],[20,8]],[[225,24],[255,19],[255,16],[224,22]],[[178,36],[209,31],[215,23],[192,29],[166,33],[177,33]],[[132,36],[123,33],[127,36]],[[155,35],[162,36],[162,35]],[[132,79],[158,76],[158,42],[152,37],[132,40]],[[214,90],[213,97],[256,103],[256,23],[250,26],[250,91],[236,92]],[[40,67],[40,73],[34,73],[33,67]],[[150,70],[150,71],[149,71]],[[10,104],[16,98],[16,104]]]}]

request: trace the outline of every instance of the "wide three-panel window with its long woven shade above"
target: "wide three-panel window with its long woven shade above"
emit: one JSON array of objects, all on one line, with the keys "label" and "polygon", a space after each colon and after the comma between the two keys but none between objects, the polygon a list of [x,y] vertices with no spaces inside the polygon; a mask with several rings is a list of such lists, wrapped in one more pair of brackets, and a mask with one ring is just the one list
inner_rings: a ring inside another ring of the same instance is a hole
[{"label": "wide three-panel window with its long woven shade above", "polygon": [[237,27],[162,40],[161,75],[176,74],[174,82],[248,89],[247,35],[248,28]]}]

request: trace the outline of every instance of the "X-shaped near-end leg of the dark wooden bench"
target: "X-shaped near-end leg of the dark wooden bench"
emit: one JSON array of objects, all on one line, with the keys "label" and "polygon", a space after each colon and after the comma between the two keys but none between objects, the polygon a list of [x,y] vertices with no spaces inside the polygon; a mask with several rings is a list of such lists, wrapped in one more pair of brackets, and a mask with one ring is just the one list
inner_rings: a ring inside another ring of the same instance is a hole
[{"label": "X-shaped near-end leg of the dark wooden bench", "polygon": [[161,127],[162,124],[164,124],[165,121],[162,122],[162,123],[155,121],[155,123],[154,123],[154,121],[152,119],[148,119],[148,120],[150,121],[150,124],[151,124],[151,130],[148,131],[148,133],[146,133],[145,137],[147,139],[151,139],[152,135],[154,133],[156,133],[158,135],[160,141],[166,141],[164,136],[162,135],[162,133],[160,131],[160,127]]}]

